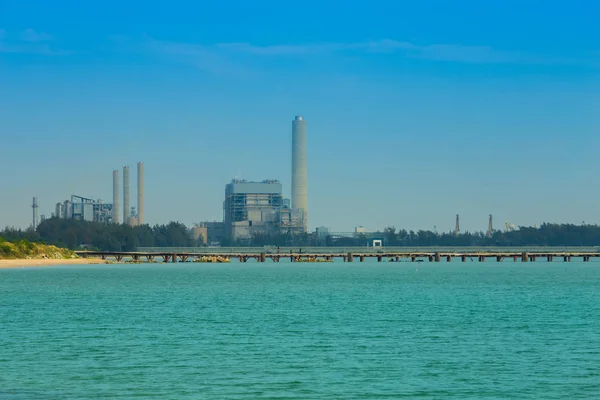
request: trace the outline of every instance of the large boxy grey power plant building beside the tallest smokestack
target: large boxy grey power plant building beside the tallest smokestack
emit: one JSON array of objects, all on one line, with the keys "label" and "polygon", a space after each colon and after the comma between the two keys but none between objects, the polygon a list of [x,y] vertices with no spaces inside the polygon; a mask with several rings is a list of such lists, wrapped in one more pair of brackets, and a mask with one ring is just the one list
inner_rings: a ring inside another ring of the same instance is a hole
[{"label": "large boxy grey power plant building beside the tallest smokestack", "polygon": [[225,237],[236,242],[249,240],[254,234],[278,233],[282,208],[278,180],[232,180],[225,186]]}]

